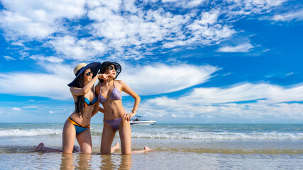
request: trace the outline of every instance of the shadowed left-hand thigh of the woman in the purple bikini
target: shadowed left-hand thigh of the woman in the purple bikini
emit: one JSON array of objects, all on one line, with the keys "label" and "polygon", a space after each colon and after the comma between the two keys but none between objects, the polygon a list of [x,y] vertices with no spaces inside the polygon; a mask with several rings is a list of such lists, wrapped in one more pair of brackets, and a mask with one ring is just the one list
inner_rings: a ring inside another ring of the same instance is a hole
[{"label": "shadowed left-hand thigh of the woman in the purple bikini", "polygon": [[111,144],[114,141],[116,131],[113,130],[107,123],[103,122],[103,132],[101,137],[101,154],[111,154]]}]

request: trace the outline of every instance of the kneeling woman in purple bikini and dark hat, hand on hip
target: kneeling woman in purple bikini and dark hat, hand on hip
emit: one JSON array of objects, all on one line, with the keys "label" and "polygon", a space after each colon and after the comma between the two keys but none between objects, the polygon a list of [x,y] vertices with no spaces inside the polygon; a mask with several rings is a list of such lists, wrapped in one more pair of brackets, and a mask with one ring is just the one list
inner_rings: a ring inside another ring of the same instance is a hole
[{"label": "kneeling woman in purple bikini and dark hat, hand on hip", "polygon": [[[111,153],[111,144],[114,141],[116,131],[119,130],[122,154],[150,152],[148,147],[141,151],[131,151],[131,124],[129,120],[136,114],[141,98],[126,83],[116,80],[121,72],[121,65],[116,62],[103,62],[100,74],[106,74],[108,79],[99,79],[96,86],[98,100],[103,108],[99,111],[104,113],[104,126],[101,137],[101,154]],[[135,98],[133,110],[126,113],[122,106],[121,92],[124,91]]]}]

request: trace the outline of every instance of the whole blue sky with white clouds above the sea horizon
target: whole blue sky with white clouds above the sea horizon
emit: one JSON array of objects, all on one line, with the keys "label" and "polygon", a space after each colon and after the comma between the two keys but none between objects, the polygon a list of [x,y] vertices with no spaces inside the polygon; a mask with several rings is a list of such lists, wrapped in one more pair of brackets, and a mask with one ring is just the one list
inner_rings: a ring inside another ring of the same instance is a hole
[{"label": "whole blue sky with white clouds above the sea horizon", "polygon": [[0,3],[1,123],[63,123],[72,69],[107,60],[145,119],[303,123],[301,1]]}]

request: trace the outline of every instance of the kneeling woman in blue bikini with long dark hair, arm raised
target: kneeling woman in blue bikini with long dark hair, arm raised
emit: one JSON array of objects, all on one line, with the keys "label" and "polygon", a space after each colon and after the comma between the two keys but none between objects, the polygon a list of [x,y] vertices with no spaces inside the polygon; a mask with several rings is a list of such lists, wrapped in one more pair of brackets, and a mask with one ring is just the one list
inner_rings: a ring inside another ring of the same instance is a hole
[{"label": "kneeling woman in blue bikini with long dark hair, arm raised", "polygon": [[[99,62],[81,63],[74,69],[76,77],[68,86],[70,86],[70,92],[75,101],[75,111],[65,121],[62,132],[62,150],[44,147],[44,144],[40,143],[34,151],[72,153],[73,150],[76,150],[76,152],[92,153],[92,137],[89,127],[92,116],[98,113],[99,109],[99,102],[93,91],[94,83],[97,79],[108,79],[106,74],[97,74],[100,65]],[[75,138],[77,138],[80,149],[74,146]],[[119,143],[113,148],[109,146],[111,152],[118,148]]]}]

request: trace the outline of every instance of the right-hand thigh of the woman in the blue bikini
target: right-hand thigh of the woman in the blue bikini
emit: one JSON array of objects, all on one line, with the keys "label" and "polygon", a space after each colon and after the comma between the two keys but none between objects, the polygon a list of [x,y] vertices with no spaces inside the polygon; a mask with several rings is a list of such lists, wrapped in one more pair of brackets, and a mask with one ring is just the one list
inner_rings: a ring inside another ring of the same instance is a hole
[{"label": "right-hand thigh of the woman in the blue bikini", "polygon": [[81,152],[84,154],[92,154],[92,137],[90,128],[80,132],[76,137],[80,145]]}]

